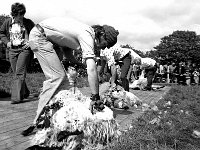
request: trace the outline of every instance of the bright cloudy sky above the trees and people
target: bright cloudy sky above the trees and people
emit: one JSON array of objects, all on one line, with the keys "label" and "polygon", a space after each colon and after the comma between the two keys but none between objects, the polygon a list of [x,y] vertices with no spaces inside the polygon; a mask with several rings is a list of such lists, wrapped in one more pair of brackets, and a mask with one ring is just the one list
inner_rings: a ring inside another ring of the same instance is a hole
[{"label": "bright cloudy sky above the trees and people", "polygon": [[69,16],[89,25],[111,25],[119,31],[118,44],[144,52],[173,31],[200,35],[200,0],[5,0],[0,15],[9,15],[15,2],[24,3],[25,17],[35,23]]}]

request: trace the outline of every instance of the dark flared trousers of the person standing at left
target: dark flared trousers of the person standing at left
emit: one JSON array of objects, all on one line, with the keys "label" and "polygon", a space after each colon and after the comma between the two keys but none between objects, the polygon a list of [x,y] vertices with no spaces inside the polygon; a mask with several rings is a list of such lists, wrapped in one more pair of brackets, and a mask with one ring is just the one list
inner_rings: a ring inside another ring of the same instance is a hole
[{"label": "dark flared trousers of the person standing at left", "polygon": [[11,100],[21,101],[29,95],[25,78],[27,72],[27,66],[30,61],[30,50],[24,49],[11,49],[9,51],[9,60],[14,78],[11,88]]}]

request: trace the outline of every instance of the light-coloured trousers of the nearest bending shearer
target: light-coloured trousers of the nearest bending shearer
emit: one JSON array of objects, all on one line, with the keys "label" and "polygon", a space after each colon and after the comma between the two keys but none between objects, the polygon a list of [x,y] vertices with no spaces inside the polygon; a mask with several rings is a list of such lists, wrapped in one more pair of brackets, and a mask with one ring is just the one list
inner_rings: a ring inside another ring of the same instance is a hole
[{"label": "light-coloured trousers of the nearest bending shearer", "polygon": [[59,91],[62,85],[64,85],[66,89],[70,86],[65,69],[59,60],[52,42],[41,34],[36,27],[30,32],[29,41],[30,47],[37,57],[46,78],[39,96],[37,114],[33,121],[33,124],[36,124],[43,112],[43,108]]}]

